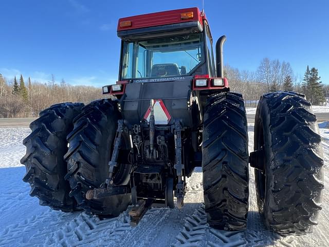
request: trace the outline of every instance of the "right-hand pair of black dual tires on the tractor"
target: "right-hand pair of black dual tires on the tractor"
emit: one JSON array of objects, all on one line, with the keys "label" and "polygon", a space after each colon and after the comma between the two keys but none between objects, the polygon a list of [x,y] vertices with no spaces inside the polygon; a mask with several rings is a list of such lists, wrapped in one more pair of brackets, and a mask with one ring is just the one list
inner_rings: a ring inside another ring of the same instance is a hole
[{"label": "right-hand pair of black dual tires on the tractor", "polygon": [[[248,211],[247,123],[240,95],[208,98],[203,131],[207,221],[221,230],[246,227]],[[304,95],[264,95],[257,108],[254,150],[258,208],[279,234],[312,232],[321,209],[323,152],[316,116]],[[262,170],[263,169],[263,170]]]}]

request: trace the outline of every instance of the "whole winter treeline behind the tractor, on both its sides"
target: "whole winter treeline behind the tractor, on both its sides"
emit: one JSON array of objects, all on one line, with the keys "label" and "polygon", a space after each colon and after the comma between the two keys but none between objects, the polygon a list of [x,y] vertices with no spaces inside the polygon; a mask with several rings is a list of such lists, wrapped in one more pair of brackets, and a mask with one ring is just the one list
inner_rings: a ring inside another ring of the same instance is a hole
[{"label": "whole winter treeline behind the tractor, on both its sides", "polygon": [[[321,105],[329,96],[329,85],[323,86],[318,69],[307,66],[304,78],[297,78],[287,62],[264,58],[255,72],[225,66],[230,90],[242,93],[246,107],[256,107],[261,95],[271,91],[296,91],[306,95],[313,104]],[[104,97],[101,88],[72,86],[64,80],[56,83],[52,76],[48,83],[31,82],[27,86],[21,75],[11,81],[0,74],[0,118],[36,117],[43,109],[61,102],[85,104]]]}]

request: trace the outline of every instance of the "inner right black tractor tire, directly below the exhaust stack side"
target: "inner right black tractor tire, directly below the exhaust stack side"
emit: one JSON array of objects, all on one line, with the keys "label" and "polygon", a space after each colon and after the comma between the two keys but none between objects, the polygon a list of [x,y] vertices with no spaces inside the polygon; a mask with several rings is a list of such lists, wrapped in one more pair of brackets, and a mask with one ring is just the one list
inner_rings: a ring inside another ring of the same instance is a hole
[{"label": "inner right black tractor tire, directly below the exhaust stack side", "polygon": [[209,225],[226,231],[243,230],[247,224],[249,171],[242,95],[221,93],[207,99],[202,150]]}]

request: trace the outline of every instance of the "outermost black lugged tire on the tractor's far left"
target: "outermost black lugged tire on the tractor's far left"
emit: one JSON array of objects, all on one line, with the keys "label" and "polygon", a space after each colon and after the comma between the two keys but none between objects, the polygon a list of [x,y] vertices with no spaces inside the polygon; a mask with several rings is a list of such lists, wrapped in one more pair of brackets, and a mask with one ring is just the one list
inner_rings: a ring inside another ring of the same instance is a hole
[{"label": "outermost black lugged tire on the tractor's far left", "polygon": [[73,119],[79,114],[82,103],[52,105],[40,112],[31,122],[32,133],[23,140],[26,154],[21,163],[26,167],[23,181],[31,185],[30,196],[36,196],[40,205],[63,211],[76,210],[77,202],[70,198],[70,187],[64,176],[67,164],[67,134],[73,129]]}]

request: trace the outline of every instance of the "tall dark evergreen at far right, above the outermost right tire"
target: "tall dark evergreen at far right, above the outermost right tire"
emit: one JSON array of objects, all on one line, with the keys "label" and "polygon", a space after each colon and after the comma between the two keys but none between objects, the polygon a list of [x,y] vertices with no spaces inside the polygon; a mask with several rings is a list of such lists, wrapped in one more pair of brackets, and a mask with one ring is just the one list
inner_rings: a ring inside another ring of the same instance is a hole
[{"label": "tall dark evergreen at far right, above the outermost right tire", "polygon": [[320,81],[321,77],[318,74],[318,69],[313,67],[310,69],[309,73],[309,84],[308,91],[311,93],[310,102],[312,104],[320,105],[325,101],[324,99],[324,91],[322,89],[322,82]]}]

